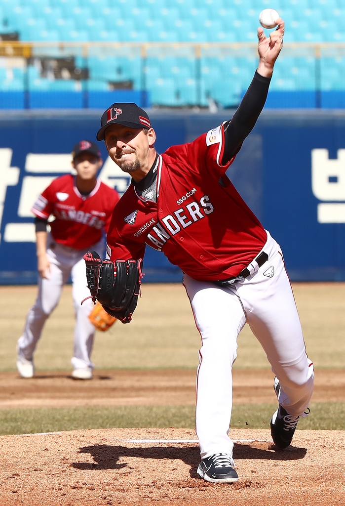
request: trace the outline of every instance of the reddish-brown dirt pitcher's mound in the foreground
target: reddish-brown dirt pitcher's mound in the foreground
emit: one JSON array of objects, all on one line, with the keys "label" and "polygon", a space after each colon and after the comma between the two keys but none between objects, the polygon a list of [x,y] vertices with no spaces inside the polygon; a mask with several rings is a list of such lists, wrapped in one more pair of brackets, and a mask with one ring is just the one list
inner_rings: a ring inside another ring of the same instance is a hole
[{"label": "reddish-brown dirt pitcher's mound in the foreground", "polygon": [[228,485],[198,479],[199,449],[191,430],[106,429],[1,436],[0,504],[345,503],[345,432],[297,431],[293,446],[283,452],[275,451],[267,430],[232,430],[231,437],[239,440],[234,457],[240,481]]}]

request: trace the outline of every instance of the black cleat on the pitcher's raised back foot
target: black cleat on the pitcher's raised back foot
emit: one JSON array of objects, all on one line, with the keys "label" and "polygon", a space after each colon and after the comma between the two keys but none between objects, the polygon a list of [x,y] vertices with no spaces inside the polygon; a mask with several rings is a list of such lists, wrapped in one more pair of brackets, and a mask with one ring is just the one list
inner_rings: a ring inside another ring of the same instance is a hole
[{"label": "black cleat on the pitcher's raised back foot", "polygon": [[[279,380],[274,378],[274,390],[278,396],[280,389]],[[308,412],[310,409],[308,408]],[[279,404],[277,411],[271,418],[271,435],[274,444],[279,450],[284,450],[289,446],[292,441],[294,431],[296,430],[297,424],[301,415],[292,416]]]}]

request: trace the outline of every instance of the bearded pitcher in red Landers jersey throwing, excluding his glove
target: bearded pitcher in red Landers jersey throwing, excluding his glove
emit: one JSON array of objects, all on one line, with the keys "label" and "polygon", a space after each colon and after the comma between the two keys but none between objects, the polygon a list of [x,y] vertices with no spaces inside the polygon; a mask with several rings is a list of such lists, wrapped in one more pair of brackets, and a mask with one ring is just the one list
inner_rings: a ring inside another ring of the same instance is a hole
[{"label": "bearded pitcher in red Landers jersey throwing, excluding his glove", "polygon": [[[155,150],[149,116],[135,104],[113,104],[97,133],[110,157],[132,177],[109,227],[110,259],[137,261],[147,244],[163,251],[184,273],[202,338],[196,384],[198,474],[216,483],[238,480],[228,437],[231,368],[246,322],[276,376],[279,405],[271,433],[277,448],[290,444],[300,417],[309,412],[313,391],[313,364],[281,249],[225,174],[264,107],[283,43],[284,22],[279,18],[278,23],[268,38],[258,29],[258,69],[231,120],[162,155]],[[99,264],[92,252],[85,260],[89,266]],[[102,288],[98,293],[102,295]],[[113,309],[117,311],[108,308]],[[131,313],[121,311],[124,321],[130,321]]]}]

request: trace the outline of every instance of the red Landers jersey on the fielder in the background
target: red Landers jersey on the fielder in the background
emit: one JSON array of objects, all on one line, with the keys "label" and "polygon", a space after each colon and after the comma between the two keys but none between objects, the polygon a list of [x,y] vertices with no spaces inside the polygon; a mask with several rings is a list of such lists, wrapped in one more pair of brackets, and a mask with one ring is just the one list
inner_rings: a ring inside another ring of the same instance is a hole
[{"label": "red Landers jersey on the fielder in the background", "polygon": [[115,204],[119,200],[116,190],[97,179],[96,186],[87,196],[81,195],[70,174],[55,179],[33,204],[31,212],[47,220],[56,242],[75,249],[86,249],[106,232]]}]

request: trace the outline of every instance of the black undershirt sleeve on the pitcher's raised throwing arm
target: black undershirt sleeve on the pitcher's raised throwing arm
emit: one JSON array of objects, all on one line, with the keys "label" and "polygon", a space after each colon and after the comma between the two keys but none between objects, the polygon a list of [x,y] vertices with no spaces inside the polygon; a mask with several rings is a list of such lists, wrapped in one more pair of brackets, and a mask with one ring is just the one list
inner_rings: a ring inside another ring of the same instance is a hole
[{"label": "black undershirt sleeve on the pitcher's raised throwing arm", "polygon": [[238,153],[244,139],[253,130],[265,105],[270,82],[270,77],[263,77],[256,71],[237,111],[224,125],[225,145],[222,159],[224,165]]}]

